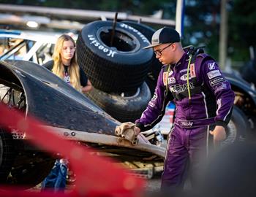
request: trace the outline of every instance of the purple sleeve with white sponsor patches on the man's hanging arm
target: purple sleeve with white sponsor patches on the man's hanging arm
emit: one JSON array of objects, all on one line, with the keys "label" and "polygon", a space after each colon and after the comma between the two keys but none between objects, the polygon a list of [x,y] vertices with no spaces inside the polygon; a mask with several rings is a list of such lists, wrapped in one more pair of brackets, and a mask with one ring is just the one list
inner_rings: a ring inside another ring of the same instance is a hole
[{"label": "purple sleeve with white sponsor patches on the man's hanging arm", "polygon": [[235,99],[230,82],[225,79],[214,60],[205,61],[201,66],[201,72],[203,72],[203,81],[206,82],[206,85],[216,98],[216,124],[225,126],[230,120]]}]

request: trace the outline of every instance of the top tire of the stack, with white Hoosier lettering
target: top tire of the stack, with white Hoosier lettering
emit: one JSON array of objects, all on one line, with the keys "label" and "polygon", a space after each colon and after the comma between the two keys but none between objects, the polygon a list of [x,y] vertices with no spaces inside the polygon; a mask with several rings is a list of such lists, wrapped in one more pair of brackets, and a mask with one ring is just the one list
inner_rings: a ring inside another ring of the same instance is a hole
[{"label": "top tire of the stack, with white Hoosier lettering", "polygon": [[78,35],[77,55],[94,88],[105,92],[135,90],[148,73],[153,50],[143,50],[149,41],[135,28],[116,23],[113,45],[110,40],[113,22],[94,21]]}]

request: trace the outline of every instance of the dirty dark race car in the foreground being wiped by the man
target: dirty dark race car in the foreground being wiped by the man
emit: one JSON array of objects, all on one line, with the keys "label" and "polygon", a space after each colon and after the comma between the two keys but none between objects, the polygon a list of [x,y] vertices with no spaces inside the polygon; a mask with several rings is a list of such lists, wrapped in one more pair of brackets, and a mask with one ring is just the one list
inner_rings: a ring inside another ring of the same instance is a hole
[{"label": "dirty dark race car in the foreground being wiped by the man", "polygon": [[[29,61],[1,61],[0,84],[1,102],[20,110],[24,117],[37,117],[42,126],[82,146],[94,147],[97,155],[115,158],[138,176],[152,177],[162,171],[163,147],[143,136],[138,145],[115,136],[117,120],[44,67]],[[55,159],[32,146],[26,134],[0,127],[1,183],[33,187],[47,176]]]}]

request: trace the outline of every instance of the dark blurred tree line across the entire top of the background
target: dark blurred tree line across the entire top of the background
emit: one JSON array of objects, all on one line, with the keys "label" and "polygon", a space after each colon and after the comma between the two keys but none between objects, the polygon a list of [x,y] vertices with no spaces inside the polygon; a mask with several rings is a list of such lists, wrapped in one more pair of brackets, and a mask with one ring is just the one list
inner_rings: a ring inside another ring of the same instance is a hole
[{"label": "dark blurred tree line across the entire top of the background", "polygon": [[[154,15],[163,11],[162,18],[175,19],[176,0],[1,0],[5,4],[26,4],[43,7],[95,9],[127,12],[132,15]],[[256,1],[230,0],[227,55],[235,61],[249,60],[249,46],[256,46]],[[218,60],[220,1],[187,0],[185,7],[183,45],[206,45],[207,53]],[[161,26],[151,26],[160,28]]]}]

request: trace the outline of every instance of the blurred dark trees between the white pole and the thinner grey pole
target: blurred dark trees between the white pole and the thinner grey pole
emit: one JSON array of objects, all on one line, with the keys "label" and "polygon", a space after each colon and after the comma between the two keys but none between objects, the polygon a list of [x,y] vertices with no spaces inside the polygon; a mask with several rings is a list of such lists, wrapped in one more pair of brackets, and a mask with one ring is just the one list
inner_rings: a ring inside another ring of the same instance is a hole
[{"label": "blurred dark trees between the white pole and the thinner grey pole", "polygon": [[218,59],[219,1],[186,1],[184,43],[206,45],[206,51]]}]

